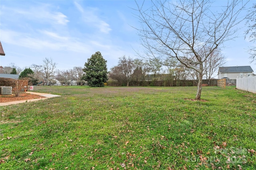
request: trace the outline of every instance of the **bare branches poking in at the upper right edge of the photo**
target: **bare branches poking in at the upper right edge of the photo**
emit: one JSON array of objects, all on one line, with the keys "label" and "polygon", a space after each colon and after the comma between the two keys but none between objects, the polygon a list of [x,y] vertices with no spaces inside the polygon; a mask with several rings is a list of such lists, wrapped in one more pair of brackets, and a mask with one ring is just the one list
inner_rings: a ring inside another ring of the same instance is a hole
[{"label": "bare branches poking in at the upper right edge of the photo", "polygon": [[[248,11],[246,16],[246,24],[248,25],[248,29],[245,34],[248,35],[248,38],[251,42],[256,42],[256,4],[254,4]],[[250,54],[251,63],[256,60],[256,46],[250,47],[248,53]]]}]

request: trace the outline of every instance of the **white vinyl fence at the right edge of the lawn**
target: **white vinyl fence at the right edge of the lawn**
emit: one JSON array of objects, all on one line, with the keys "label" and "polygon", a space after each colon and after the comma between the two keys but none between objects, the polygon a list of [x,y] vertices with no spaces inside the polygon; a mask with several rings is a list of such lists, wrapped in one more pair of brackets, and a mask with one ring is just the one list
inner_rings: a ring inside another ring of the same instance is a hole
[{"label": "white vinyl fence at the right edge of the lawn", "polygon": [[236,78],[236,88],[239,90],[256,93],[256,76]]}]

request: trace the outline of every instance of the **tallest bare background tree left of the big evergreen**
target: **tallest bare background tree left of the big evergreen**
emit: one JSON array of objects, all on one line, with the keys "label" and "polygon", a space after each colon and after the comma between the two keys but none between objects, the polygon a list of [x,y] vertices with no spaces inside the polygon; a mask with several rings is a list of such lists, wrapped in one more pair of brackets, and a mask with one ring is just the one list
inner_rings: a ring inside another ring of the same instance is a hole
[{"label": "tallest bare background tree left of the big evergreen", "polygon": [[52,79],[54,78],[54,69],[56,68],[57,63],[54,63],[52,59],[45,58],[43,60],[42,70],[44,78],[46,78],[50,82],[50,86],[52,84]]}]

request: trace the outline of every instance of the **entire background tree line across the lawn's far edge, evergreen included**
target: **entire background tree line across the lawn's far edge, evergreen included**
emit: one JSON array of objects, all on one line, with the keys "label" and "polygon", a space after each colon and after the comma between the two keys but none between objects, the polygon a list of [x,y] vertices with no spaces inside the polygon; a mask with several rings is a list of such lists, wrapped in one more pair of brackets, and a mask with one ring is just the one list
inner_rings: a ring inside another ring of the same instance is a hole
[{"label": "entire background tree line across the lawn's far edge, evergreen included", "polygon": [[[207,49],[205,49],[207,51]],[[161,63],[172,63],[172,66]],[[42,65],[32,64],[20,72],[19,78],[29,78],[30,84],[36,85],[46,83],[55,84],[55,80],[68,86],[71,80],[77,85],[87,82],[92,87],[102,87],[104,83],[116,81],[123,86],[129,86],[133,82],[135,86],[150,85],[148,81],[176,80],[179,86],[180,80],[195,80],[198,82],[198,74],[193,69],[180,66],[177,60],[161,61],[161,59],[146,60],[141,58],[133,59],[125,55],[119,58],[118,65],[107,70],[107,61],[98,51],[81,66],[74,66],[68,70],[56,69],[57,63],[52,59],[43,59]],[[204,78],[208,81],[213,78],[214,72],[219,66],[225,63],[225,57],[220,51],[214,51],[208,60],[204,62]],[[10,69],[11,70],[11,69]],[[14,70],[14,69],[12,69]],[[163,78],[164,77],[164,78]]]}]

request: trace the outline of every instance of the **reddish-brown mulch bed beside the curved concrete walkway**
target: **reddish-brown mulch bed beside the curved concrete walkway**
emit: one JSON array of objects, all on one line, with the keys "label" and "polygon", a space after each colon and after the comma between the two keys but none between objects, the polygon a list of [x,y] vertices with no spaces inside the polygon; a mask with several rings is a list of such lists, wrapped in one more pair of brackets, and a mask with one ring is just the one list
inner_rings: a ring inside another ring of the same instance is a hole
[{"label": "reddish-brown mulch bed beside the curved concrete walkway", "polygon": [[38,96],[29,93],[20,93],[20,96],[16,97],[14,94],[11,95],[0,95],[0,103],[14,102],[19,100],[31,100],[31,99],[42,99],[44,96]]}]

